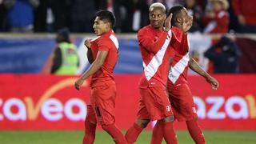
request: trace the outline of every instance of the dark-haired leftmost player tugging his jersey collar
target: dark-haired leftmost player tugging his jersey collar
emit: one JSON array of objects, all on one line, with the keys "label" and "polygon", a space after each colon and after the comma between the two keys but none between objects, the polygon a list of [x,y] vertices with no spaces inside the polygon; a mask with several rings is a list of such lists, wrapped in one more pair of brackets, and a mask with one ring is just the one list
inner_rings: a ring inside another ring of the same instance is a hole
[{"label": "dark-haired leftmost player tugging his jersey collar", "polygon": [[114,124],[116,86],[113,70],[118,60],[118,39],[113,31],[114,23],[114,14],[110,11],[102,10],[97,13],[93,28],[98,37],[85,41],[91,66],[74,83],[75,88],[79,90],[86,78],[92,75],[83,144],[94,143],[97,122],[111,135],[115,143],[127,143],[121,130]]}]

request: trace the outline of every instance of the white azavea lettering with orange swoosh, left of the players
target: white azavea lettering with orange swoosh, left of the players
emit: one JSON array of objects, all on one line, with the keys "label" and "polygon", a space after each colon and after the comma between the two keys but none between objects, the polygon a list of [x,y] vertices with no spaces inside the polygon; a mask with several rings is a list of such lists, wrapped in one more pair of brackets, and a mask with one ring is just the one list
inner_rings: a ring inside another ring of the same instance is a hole
[{"label": "white azavea lettering with orange swoosh, left of the players", "polygon": [[[65,102],[59,98],[53,98],[53,94],[68,86],[74,86],[75,78],[67,78],[50,86],[38,101],[33,96],[24,98],[0,97],[0,122],[1,121],[34,121],[39,114],[46,121],[59,121],[67,118],[70,121],[83,121],[86,117],[86,102],[82,98],[70,96]],[[87,86],[87,82],[84,86]],[[72,87],[73,88],[73,87]],[[61,97],[60,97],[61,98]]]}]

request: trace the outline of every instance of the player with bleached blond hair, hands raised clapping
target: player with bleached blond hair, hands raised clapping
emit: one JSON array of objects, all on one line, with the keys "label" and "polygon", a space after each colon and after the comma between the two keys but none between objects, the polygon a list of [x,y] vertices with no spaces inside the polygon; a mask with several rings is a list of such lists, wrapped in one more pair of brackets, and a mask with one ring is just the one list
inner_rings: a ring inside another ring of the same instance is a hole
[{"label": "player with bleached blond hair, hands raised clapping", "polygon": [[[128,143],[134,143],[150,120],[158,120],[166,143],[177,143],[173,129],[174,114],[166,94],[169,70],[170,41],[177,41],[170,30],[171,15],[166,18],[166,8],[156,2],[150,6],[150,25],[138,31],[138,44],[144,70],[139,82],[141,98],[137,119],[126,132]],[[165,24],[165,27],[163,25]],[[151,143],[154,144],[154,134]]]}]

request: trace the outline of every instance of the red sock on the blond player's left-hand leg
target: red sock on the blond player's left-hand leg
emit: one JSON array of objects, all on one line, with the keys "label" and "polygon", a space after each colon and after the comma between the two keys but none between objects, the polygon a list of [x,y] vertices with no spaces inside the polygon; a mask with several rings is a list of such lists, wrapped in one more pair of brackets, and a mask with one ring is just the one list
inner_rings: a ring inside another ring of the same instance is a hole
[{"label": "red sock on the blond player's left-hand leg", "polygon": [[134,123],[134,125],[131,126],[126,132],[126,141],[129,144],[136,142],[138,135],[141,134],[142,130],[143,128],[141,126],[138,126],[136,123]]}]

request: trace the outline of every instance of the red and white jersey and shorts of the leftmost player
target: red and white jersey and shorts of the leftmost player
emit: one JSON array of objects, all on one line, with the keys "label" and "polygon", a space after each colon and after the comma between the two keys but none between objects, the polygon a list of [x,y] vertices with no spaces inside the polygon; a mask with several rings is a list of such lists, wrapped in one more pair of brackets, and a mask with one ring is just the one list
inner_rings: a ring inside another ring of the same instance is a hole
[{"label": "red and white jersey and shorts of the leftmost player", "polygon": [[118,61],[118,39],[113,31],[109,31],[91,40],[90,48],[94,59],[99,50],[108,51],[108,54],[102,67],[93,74],[90,81],[90,105],[87,106],[87,120],[109,125],[115,121],[116,86],[113,70]]}]

